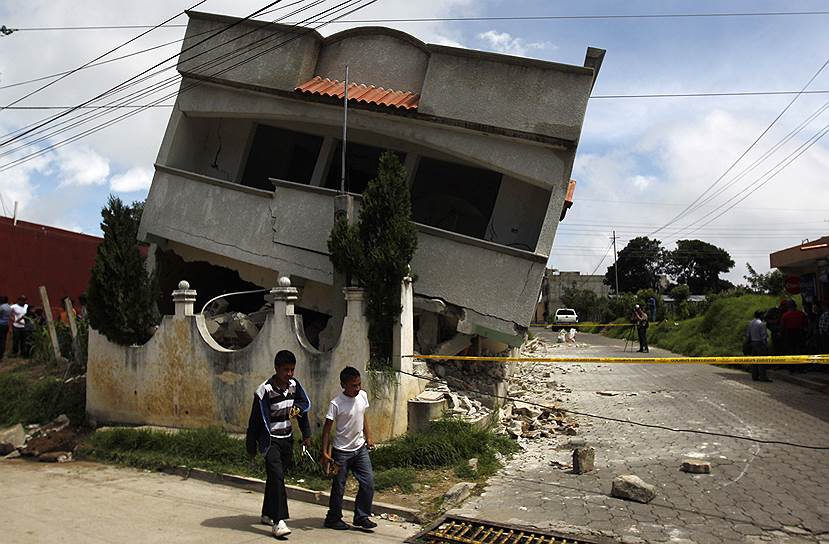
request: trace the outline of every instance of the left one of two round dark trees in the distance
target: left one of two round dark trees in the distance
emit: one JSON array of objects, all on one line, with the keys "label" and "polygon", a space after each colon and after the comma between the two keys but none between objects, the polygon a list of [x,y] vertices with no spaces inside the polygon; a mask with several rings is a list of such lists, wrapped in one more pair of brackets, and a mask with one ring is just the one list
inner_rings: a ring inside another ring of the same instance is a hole
[{"label": "left one of two round dark trees in the distance", "polygon": [[617,264],[607,268],[604,282],[615,292],[615,272],[618,265],[620,292],[635,293],[640,289],[653,289],[662,272],[662,259],[662,242],[639,236],[628,242],[619,252]]}]

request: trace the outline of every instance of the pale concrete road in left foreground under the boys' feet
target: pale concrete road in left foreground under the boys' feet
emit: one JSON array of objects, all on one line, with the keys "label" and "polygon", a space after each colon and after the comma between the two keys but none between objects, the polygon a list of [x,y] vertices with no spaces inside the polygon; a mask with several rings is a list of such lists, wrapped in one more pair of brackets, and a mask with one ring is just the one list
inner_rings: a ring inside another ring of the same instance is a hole
[{"label": "pale concrete road in left foreground under the boys' feet", "polygon": [[[94,544],[272,542],[262,495],[94,463],[0,461],[0,542]],[[374,533],[322,528],[325,508],[289,503],[294,543],[402,542],[412,524],[376,519]]]}]

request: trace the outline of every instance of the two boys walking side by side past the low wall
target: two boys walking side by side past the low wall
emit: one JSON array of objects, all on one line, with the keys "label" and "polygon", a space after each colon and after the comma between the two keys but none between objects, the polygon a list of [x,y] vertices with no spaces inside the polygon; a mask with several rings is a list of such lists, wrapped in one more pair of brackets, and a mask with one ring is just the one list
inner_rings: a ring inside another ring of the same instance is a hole
[{"label": "two boys walking side by side past the low wall", "polygon": [[[273,527],[274,536],[285,537],[291,533],[285,523],[289,518],[285,470],[291,465],[294,447],[291,420],[297,420],[302,447],[307,451],[311,441],[308,420],[311,400],[294,378],[296,356],[291,351],[278,352],[273,364],[273,376],[254,392],[245,446],[251,457],[258,451],[265,459],[267,480],[261,521]],[[336,530],[351,528],[343,521],[342,512],[345,482],[350,471],[359,483],[353,525],[371,530],[377,524],[369,517],[374,500],[374,472],[368,451],[374,443],[365,417],[368,396],[362,390],[360,371],[354,367],[347,366],[340,372],[340,385],[343,391],[328,403],[322,430],[320,463],[328,467],[326,473],[333,476],[324,526]],[[329,452],[331,429],[335,434]]]}]

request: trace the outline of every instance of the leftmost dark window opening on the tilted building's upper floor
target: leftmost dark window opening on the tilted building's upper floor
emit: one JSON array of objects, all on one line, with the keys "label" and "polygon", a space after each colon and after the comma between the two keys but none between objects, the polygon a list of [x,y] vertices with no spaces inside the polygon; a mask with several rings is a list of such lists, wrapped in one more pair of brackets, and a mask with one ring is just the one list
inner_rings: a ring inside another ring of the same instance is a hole
[{"label": "leftmost dark window opening on the tilted building's upper floor", "polygon": [[268,178],[311,183],[322,137],[269,125],[256,127],[242,185],[273,191]]}]

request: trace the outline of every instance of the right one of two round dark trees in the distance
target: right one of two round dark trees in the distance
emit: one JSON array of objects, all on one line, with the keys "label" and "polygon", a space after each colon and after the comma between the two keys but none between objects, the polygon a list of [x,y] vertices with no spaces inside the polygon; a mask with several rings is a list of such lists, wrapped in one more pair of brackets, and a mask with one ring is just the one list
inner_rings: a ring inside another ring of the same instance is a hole
[{"label": "right one of two round dark trees in the distance", "polygon": [[702,240],[678,240],[666,256],[668,273],[692,293],[719,293],[731,285],[720,279],[721,273],[734,267],[731,255],[722,248]]}]

